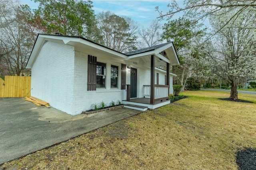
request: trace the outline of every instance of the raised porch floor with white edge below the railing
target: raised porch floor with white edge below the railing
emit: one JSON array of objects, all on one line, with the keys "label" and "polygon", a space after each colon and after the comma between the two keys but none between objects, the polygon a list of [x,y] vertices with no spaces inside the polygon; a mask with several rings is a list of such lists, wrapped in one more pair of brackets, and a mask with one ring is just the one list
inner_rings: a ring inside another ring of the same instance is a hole
[{"label": "raised porch floor with white edge below the railing", "polygon": [[170,100],[157,100],[155,104],[150,104],[150,98],[133,98],[130,101],[123,100],[123,104],[134,104],[138,106],[146,106],[149,109],[155,109],[157,107],[164,106],[166,104],[170,104]]}]

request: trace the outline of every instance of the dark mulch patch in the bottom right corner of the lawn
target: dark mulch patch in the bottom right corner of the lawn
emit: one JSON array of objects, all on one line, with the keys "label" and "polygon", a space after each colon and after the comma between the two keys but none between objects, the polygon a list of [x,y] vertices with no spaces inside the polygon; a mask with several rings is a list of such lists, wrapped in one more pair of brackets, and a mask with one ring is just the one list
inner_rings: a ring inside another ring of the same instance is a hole
[{"label": "dark mulch patch in the bottom right corner of the lawn", "polygon": [[239,170],[256,170],[256,148],[238,150],[236,164]]}]

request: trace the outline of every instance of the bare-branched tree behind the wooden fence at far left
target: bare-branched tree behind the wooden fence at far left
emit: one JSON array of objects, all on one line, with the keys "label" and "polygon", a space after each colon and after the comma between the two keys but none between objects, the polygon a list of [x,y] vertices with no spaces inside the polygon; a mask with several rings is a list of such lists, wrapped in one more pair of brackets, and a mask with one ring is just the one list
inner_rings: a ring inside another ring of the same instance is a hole
[{"label": "bare-branched tree behind the wooden fence at far left", "polygon": [[4,51],[1,67],[8,70],[11,75],[24,73],[30,50],[33,47],[35,34],[28,26],[30,8],[25,6],[13,6],[13,15],[5,16],[0,29],[2,37],[0,45]]}]

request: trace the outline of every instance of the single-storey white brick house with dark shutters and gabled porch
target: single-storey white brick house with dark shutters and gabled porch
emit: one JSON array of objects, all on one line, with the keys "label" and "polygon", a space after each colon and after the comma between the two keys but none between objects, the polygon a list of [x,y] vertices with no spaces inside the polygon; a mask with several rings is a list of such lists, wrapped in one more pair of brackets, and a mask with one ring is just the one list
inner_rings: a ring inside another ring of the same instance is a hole
[{"label": "single-storey white brick house with dark shutters and gabled porch", "polygon": [[32,72],[31,96],[77,115],[102,101],[135,104],[145,97],[150,102],[136,105],[148,108],[170,103],[175,74],[156,68],[170,64],[179,64],[173,43],[124,54],[82,37],[39,34],[26,67]]}]

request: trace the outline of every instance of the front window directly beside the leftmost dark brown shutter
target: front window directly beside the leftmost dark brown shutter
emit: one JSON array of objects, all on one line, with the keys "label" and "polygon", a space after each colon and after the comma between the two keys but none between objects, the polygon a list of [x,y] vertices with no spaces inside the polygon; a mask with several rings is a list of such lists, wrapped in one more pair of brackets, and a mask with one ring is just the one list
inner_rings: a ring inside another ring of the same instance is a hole
[{"label": "front window directly beside the leftmost dark brown shutter", "polygon": [[96,67],[97,85],[96,88],[106,88],[106,64],[97,62]]}]

